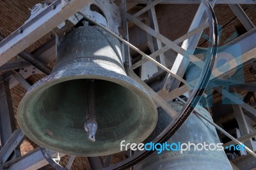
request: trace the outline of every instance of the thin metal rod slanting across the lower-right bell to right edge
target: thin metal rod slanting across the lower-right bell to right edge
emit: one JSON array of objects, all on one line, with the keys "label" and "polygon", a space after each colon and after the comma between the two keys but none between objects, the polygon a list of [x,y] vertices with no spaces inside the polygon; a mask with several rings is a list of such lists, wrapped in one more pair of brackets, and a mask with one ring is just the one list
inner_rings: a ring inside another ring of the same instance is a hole
[{"label": "thin metal rod slanting across the lower-right bell to right edge", "polygon": [[[185,104],[186,102],[184,100],[182,100],[181,98],[177,97],[177,99],[182,102],[182,104]],[[223,134],[225,134],[227,137],[229,137],[232,141],[234,141],[237,144],[241,144],[243,145],[243,143],[241,143],[240,141],[238,141],[235,137],[233,137],[232,135],[228,134],[228,132],[226,132],[223,128],[219,127],[218,125],[216,125],[215,123],[213,123],[211,120],[209,120],[207,117],[205,117],[203,114],[201,114],[199,111],[197,111],[197,109],[195,108],[195,113],[200,116],[201,118],[203,118],[204,120],[208,121],[212,126],[214,126],[215,128],[217,128],[218,130],[220,130],[220,132],[222,132]],[[246,151],[248,151],[248,153],[250,153],[253,157],[256,158],[256,154],[250,150],[248,147],[244,146],[244,149]]]}]

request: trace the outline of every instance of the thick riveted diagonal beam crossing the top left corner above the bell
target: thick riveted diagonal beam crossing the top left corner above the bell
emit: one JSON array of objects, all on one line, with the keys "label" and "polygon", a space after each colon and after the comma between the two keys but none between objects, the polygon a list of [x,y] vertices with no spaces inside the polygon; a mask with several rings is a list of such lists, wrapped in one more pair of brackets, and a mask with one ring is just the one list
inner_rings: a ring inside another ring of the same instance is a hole
[{"label": "thick riveted diagonal beam crossing the top left corner above the bell", "polygon": [[54,1],[0,42],[0,66],[81,10],[92,0]]}]

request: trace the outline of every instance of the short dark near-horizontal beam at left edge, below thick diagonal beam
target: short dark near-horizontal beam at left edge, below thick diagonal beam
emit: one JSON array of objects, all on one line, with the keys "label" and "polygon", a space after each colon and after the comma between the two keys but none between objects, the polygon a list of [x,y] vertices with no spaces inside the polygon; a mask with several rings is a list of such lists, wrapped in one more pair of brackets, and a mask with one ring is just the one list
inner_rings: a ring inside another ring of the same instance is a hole
[{"label": "short dark near-horizontal beam at left edge, below thick diagonal beam", "polygon": [[16,69],[25,68],[28,66],[30,66],[28,62],[24,61],[23,59],[19,59],[16,61],[8,61],[3,66],[0,66],[0,71],[4,72],[9,70],[16,70]]}]

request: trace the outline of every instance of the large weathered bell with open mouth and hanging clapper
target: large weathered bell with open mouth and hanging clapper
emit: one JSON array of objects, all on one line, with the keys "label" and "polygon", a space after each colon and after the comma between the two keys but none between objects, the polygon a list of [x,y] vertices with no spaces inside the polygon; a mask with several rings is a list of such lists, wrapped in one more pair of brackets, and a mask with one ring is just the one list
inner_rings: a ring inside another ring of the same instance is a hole
[{"label": "large weathered bell with open mouth and hanging clapper", "polygon": [[73,29],[51,75],[20,102],[20,128],[40,146],[68,155],[108,155],[120,151],[122,140],[141,143],[156,126],[157,110],[122,63],[116,38],[96,26]]}]

